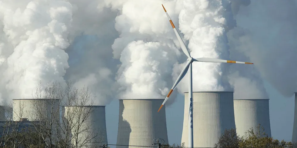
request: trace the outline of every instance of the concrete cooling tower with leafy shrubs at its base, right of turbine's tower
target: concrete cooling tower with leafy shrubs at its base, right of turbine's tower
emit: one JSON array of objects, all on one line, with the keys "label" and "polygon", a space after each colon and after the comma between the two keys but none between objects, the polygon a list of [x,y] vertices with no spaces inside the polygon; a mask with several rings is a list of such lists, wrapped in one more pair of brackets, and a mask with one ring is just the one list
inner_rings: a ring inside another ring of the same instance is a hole
[{"label": "concrete cooling tower with leafy shrubs at its base, right of turbine's tower", "polygon": [[250,128],[256,131],[261,124],[265,133],[271,137],[269,99],[234,99],[234,115],[239,136],[244,136]]}]

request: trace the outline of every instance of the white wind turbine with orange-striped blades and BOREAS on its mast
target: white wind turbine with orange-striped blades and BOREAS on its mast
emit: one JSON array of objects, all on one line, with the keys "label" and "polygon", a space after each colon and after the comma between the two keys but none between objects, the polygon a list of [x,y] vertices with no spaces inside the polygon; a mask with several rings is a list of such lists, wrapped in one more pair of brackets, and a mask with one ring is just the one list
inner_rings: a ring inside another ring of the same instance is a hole
[{"label": "white wind turbine with orange-striped blades and BOREAS on its mast", "polygon": [[192,92],[192,63],[194,61],[196,62],[218,62],[218,63],[238,63],[238,64],[253,64],[253,63],[249,63],[249,62],[239,62],[239,61],[229,61],[229,60],[222,60],[222,59],[215,59],[215,58],[197,58],[194,59],[191,57],[187,47],[185,46],[185,43],[182,41],[182,38],[180,37],[179,33],[177,32],[174,24],[171,21],[171,18],[169,17],[168,13],[166,12],[166,9],[164,8],[163,4],[162,7],[169,19],[169,22],[173,28],[173,31],[177,37],[177,39],[179,40],[179,44],[182,48],[182,51],[185,53],[185,55],[188,57],[187,59],[187,64],[184,67],[184,69],[182,70],[182,72],[179,74],[179,77],[177,78],[177,80],[175,81],[175,83],[173,84],[171,90],[169,91],[167,97],[165,98],[165,100],[163,101],[161,107],[159,108],[158,112],[161,110],[161,108],[163,107],[163,105],[165,104],[165,102],[168,100],[169,96],[171,95],[172,91],[176,88],[177,84],[179,84],[179,82],[182,80],[182,78],[185,76],[185,74],[187,73],[187,71],[189,72],[189,148],[193,148],[193,104],[192,104],[192,96],[193,96],[193,92]]}]

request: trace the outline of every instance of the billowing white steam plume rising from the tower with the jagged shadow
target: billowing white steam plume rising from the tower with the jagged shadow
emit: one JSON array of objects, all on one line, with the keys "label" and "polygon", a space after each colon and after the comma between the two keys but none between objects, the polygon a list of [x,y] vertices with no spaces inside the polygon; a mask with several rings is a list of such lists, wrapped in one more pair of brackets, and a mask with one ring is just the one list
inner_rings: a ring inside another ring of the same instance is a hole
[{"label": "billowing white steam plume rising from the tower with the jagged shadow", "polygon": [[[115,28],[120,35],[112,45],[114,58],[122,63],[116,77],[120,99],[162,99],[170,90],[172,65],[177,62],[180,51],[161,7],[162,2],[127,0],[110,3],[112,8],[120,11],[115,19]],[[174,1],[164,3],[168,9],[175,10],[172,13],[178,12]],[[177,18],[177,14],[170,15]]]}]

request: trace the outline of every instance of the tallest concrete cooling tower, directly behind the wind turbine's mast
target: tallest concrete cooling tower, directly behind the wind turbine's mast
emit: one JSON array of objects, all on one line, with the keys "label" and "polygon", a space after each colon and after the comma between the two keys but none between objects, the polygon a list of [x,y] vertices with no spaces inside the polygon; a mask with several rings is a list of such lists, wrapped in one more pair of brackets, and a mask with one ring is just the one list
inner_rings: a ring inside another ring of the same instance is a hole
[{"label": "tallest concrete cooling tower, directly behind the wind turbine's mast", "polygon": [[[189,93],[185,93],[182,143],[189,146]],[[193,92],[194,147],[214,147],[225,129],[235,128],[233,92]]]}]

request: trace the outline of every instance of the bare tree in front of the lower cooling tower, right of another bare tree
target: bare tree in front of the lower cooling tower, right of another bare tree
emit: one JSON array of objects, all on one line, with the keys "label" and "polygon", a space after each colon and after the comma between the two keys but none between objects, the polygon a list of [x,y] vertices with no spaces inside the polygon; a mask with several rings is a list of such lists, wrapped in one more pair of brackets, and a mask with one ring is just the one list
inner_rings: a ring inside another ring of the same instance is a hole
[{"label": "bare tree in front of the lower cooling tower, right of another bare tree", "polygon": [[68,101],[71,103],[65,106],[65,118],[70,125],[73,147],[101,147],[105,141],[105,131],[95,129],[91,120],[91,114],[96,109],[93,106],[95,96],[91,96],[87,87],[79,91],[74,89],[72,94],[76,95],[72,95],[71,101]]}]

